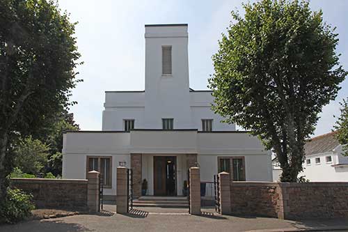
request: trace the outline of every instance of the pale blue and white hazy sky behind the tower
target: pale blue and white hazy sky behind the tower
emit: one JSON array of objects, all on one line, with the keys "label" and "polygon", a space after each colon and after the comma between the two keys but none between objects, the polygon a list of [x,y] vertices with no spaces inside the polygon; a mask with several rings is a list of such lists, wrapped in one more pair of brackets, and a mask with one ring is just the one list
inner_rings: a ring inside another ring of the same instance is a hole
[{"label": "pale blue and white hazy sky behind the tower", "polygon": [[[230,11],[243,12],[242,2],[58,0],[60,8],[70,13],[70,21],[78,22],[75,36],[84,64],[77,68],[77,78],[84,82],[72,91],[71,100],[78,104],[70,111],[81,130],[102,130],[105,91],[144,90],[145,24],[189,24],[190,87],[207,89],[218,40],[230,24]],[[310,7],[322,9],[324,21],[337,27],[337,52],[348,70],[348,1],[313,0]],[[333,116],[340,114],[339,102],[348,96],[348,77],[341,86],[336,100],[322,109],[314,135],[333,129],[337,120]]]}]

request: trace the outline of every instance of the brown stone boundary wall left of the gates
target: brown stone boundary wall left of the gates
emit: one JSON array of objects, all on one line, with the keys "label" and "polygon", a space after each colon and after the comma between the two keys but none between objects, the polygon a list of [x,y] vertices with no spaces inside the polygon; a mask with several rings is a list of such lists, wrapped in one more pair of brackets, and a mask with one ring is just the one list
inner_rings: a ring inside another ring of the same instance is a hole
[{"label": "brown stone boundary wall left of the gates", "polygon": [[11,178],[10,183],[33,194],[37,208],[88,210],[88,180]]}]

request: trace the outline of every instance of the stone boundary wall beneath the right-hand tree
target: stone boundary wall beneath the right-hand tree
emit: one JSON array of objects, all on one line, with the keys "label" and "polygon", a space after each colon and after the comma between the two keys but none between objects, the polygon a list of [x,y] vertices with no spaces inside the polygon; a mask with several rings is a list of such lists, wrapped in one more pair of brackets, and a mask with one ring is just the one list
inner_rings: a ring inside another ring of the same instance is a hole
[{"label": "stone boundary wall beneath the right-hand tree", "polygon": [[237,215],[348,217],[348,183],[231,182],[230,206]]}]

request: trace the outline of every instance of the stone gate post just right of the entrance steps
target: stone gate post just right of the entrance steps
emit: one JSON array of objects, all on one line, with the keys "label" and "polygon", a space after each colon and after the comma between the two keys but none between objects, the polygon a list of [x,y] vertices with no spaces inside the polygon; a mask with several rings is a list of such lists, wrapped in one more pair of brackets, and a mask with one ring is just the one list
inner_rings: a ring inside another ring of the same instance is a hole
[{"label": "stone gate post just right of the entrance steps", "polygon": [[200,169],[199,167],[190,167],[189,170],[190,213],[191,215],[200,215]]}]

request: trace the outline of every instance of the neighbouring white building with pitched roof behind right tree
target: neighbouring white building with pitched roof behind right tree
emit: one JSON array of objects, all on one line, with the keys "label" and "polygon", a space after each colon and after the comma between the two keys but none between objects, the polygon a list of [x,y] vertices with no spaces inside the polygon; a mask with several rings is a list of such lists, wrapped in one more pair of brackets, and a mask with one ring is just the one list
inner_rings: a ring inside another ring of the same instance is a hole
[{"label": "neighbouring white building with pitched roof behind right tree", "polygon": [[[343,182],[348,180],[348,157],[342,155],[342,144],[335,138],[335,132],[313,137],[306,142],[306,157],[303,172],[299,176],[310,182]],[[273,178],[279,180],[281,169],[276,158],[273,160]]]}]

